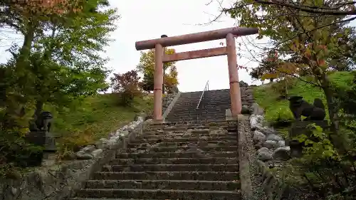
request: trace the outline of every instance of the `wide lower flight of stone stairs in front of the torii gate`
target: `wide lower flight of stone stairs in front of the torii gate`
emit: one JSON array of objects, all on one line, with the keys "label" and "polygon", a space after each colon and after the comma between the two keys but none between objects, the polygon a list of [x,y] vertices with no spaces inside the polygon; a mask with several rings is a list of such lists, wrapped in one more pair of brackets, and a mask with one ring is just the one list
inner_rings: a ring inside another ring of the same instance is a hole
[{"label": "wide lower flight of stone stairs in front of the torii gate", "polygon": [[71,200],[239,200],[237,137],[225,120],[150,125]]}]

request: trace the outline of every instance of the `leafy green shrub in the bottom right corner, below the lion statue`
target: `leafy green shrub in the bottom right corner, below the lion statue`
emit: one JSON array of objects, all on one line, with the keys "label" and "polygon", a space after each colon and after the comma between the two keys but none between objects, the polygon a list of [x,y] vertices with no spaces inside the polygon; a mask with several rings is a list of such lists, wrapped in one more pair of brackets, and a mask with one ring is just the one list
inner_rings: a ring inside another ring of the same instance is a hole
[{"label": "leafy green shrub in the bottom right corner, below the lion statue", "polygon": [[310,129],[318,142],[306,135],[298,137],[299,142],[308,146],[303,147],[303,157],[290,160],[284,172],[288,173],[285,181],[299,186],[308,184],[313,191],[310,199],[355,199],[355,141],[350,142],[354,147],[343,151],[329,140],[329,132],[315,125]]}]

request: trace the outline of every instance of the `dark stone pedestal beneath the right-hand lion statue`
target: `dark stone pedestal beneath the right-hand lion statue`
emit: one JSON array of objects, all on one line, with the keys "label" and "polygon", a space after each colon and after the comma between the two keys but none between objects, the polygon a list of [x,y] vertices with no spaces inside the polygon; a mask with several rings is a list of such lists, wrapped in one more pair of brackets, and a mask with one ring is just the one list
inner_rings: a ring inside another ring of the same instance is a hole
[{"label": "dark stone pedestal beneath the right-hand lion statue", "polygon": [[294,137],[298,137],[298,135],[306,135],[309,140],[313,142],[318,142],[318,139],[313,137],[313,131],[308,128],[308,125],[315,123],[315,125],[320,126],[323,130],[328,129],[328,121],[295,121],[292,124],[292,127],[289,130],[289,140],[286,141],[287,145],[290,146],[290,156],[291,157],[301,157],[303,152],[303,147],[305,144],[303,142],[299,142],[298,140],[293,140]]}]

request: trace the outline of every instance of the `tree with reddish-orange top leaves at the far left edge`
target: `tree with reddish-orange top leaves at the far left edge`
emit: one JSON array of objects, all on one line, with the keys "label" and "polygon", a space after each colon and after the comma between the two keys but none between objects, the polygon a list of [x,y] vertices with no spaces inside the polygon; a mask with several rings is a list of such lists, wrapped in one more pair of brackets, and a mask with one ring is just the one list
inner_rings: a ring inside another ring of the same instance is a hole
[{"label": "tree with reddish-orange top leaves at the far left edge", "polygon": [[[46,32],[48,21],[68,21],[69,16],[82,12],[81,4],[84,1],[1,1],[0,28],[13,28],[23,35],[21,46],[11,48],[14,58],[4,65],[4,78],[1,79],[3,104],[5,105],[3,126],[14,127],[18,122],[14,118],[19,117],[19,107],[31,105],[31,98],[24,93],[32,90],[29,83],[33,83],[33,77],[29,73],[29,56],[36,34]],[[6,87],[9,86],[10,87]],[[30,109],[31,107],[28,107]],[[8,127],[8,128],[9,128]]]}]

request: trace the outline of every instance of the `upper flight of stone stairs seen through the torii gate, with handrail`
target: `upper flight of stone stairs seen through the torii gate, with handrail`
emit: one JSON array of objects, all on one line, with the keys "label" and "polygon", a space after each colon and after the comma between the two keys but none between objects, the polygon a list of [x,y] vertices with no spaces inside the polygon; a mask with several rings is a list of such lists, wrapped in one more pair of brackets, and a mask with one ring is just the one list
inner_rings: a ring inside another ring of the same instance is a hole
[{"label": "upper flight of stone stairs seen through the torii gate, with handrail", "polygon": [[[194,120],[225,120],[226,109],[230,109],[230,90],[207,90],[201,100],[199,109],[197,105],[203,92],[182,93],[171,112],[166,118],[167,122],[187,122]],[[242,105],[251,105],[253,97],[251,89],[241,87]]]}]

